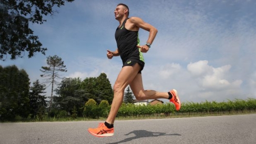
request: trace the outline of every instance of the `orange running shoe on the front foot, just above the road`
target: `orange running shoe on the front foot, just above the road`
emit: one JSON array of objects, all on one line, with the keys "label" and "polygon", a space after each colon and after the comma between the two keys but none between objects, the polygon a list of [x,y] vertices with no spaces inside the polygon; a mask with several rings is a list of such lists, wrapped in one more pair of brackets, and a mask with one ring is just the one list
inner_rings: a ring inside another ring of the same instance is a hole
[{"label": "orange running shoe on the front foot, just above the road", "polygon": [[98,128],[89,128],[88,131],[96,137],[107,137],[114,135],[114,128],[107,128],[104,123],[99,123]]}]

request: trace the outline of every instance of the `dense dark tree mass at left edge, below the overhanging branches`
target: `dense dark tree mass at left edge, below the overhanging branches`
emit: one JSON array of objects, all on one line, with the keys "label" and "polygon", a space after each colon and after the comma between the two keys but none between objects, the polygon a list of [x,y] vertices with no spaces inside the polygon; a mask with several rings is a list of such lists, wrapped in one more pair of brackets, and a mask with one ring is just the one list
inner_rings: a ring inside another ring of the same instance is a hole
[{"label": "dense dark tree mass at left edge, below the overhanging branches", "polygon": [[29,115],[29,76],[16,66],[0,67],[0,119]]}]

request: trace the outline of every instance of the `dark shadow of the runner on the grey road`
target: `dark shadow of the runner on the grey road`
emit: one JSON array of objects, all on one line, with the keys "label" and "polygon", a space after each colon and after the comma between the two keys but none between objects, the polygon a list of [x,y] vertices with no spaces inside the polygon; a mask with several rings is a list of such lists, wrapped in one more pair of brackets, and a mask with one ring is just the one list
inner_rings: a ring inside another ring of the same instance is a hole
[{"label": "dark shadow of the runner on the grey road", "polygon": [[145,138],[145,137],[158,137],[158,136],[165,136],[165,135],[177,135],[177,136],[180,136],[181,135],[181,134],[177,134],[177,133],[166,134],[166,133],[163,133],[163,132],[151,132],[151,131],[146,131],[146,130],[134,130],[134,131],[131,131],[128,134],[125,134],[125,135],[129,135],[131,133],[134,133],[135,136],[134,137],[130,137],[130,138],[126,138],[126,139],[124,139],[122,141],[119,141],[119,142],[109,143],[109,144],[120,144],[120,143],[129,142],[129,141],[134,140],[134,139]]}]

